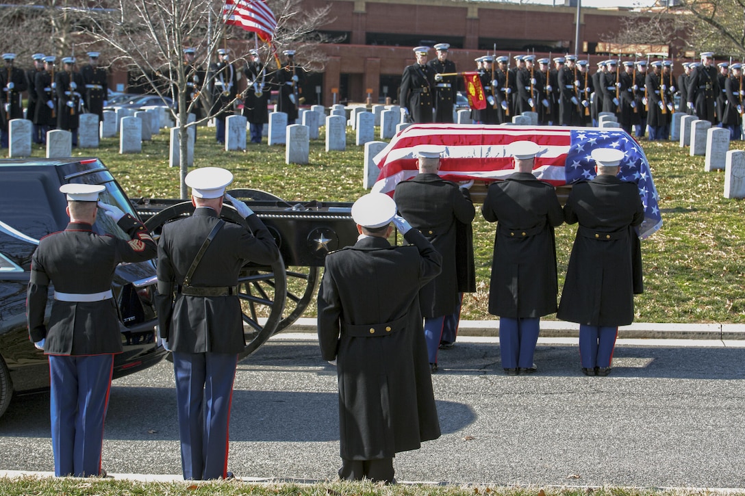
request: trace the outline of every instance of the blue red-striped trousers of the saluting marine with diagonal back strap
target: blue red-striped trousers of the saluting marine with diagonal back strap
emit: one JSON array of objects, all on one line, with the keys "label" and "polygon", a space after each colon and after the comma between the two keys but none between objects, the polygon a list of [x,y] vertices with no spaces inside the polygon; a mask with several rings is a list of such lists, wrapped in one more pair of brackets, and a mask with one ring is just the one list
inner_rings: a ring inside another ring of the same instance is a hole
[{"label": "blue red-striped trousers of the saluting marine with diagonal back strap", "polygon": [[238,355],[174,352],[173,357],[184,479],[224,479]]}]

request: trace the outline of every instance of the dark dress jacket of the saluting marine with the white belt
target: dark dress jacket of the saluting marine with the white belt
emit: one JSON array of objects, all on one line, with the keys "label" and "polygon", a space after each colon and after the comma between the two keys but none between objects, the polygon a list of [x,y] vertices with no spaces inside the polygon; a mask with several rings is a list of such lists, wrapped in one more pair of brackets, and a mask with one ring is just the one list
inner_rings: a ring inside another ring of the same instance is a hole
[{"label": "dark dress jacket of the saluting marine with the white belt", "polygon": [[45,338],[48,354],[87,355],[121,353],[121,329],[114,299],[63,302],[51,305],[48,325],[44,314],[49,284],[62,293],[92,294],[111,289],[120,262],[150,260],[156,244],[145,226],[130,214],[117,225],[130,241],[93,232],[88,223],[69,223],[39,241],[31,260],[28,283],[28,332],[36,343]]}]

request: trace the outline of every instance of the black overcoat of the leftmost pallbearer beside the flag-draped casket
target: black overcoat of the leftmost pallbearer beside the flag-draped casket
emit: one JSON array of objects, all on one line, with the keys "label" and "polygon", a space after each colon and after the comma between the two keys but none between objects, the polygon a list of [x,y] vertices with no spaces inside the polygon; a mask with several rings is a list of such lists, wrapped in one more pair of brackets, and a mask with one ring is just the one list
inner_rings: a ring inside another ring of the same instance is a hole
[{"label": "black overcoat of the leftmost pallbearer beside the flag-draped casket", "polygon": [[459,302],[456,220],[472,222],[476,211],[470,197],[464,196],[454,182],[440,179],[437,174],[418,174],[396,185],[393,200],[402,217],[443,255],[440,276],[419,293],[422,317],[452,314]]}]

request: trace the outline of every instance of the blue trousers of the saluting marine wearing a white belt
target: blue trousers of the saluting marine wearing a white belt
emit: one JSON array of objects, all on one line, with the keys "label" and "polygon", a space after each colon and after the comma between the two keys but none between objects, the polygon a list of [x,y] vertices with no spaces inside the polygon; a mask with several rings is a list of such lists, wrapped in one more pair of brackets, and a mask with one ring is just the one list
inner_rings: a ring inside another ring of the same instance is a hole
[{"label": "blue trousers of the saluting marine wearing a white belt", "polygon": [[113,354],[49,355],[54,475],[101,473]]}]

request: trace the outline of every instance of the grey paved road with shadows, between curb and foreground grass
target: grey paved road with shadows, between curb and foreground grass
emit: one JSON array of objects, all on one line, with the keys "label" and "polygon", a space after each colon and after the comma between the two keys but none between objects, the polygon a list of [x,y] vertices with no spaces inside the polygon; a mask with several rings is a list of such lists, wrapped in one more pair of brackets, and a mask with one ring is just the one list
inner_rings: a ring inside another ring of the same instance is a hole
[{"label": "grey paved road with shadows, between curb and foreground grass", "polygon": [[[320,360],[312,335],[278,338],[238,366],[229,469],[244,477],[333,478],[335,369]],[[443,436],[399,454],[396,476],[744,488],[744,349],[636,343],[619,342],[612,375],[588,378],[576,340],[542,339],[539,374],[507,377],[498,346],[464,338],[441,352],[444,370],[433,378]],[[48,401],[48,394],[16,398],[0,419],[0,471],[52,470]],[[171,363],[115,381],[104,468],[180,474],[178,449]]]}]

